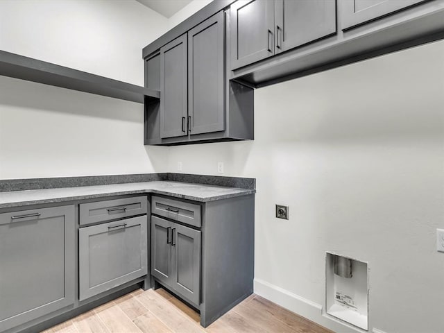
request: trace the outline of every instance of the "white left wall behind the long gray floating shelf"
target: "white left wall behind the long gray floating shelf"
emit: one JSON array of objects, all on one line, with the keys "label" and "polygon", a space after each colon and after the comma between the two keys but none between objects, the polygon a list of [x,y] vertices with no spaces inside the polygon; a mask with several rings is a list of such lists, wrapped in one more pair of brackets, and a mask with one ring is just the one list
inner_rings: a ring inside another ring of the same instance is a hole
[{"label": "white left wall behind the long gray floating shelf", "polygon": [[[137,1],[2,0],[0,49],[143,85],[168,19]],[[0,179],[157,172],[143,105],[0,77]]]}]

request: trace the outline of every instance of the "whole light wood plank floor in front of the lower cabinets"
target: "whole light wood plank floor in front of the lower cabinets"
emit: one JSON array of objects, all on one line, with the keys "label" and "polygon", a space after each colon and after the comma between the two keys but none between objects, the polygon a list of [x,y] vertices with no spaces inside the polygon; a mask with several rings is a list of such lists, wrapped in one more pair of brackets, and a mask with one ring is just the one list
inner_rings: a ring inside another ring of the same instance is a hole
[{"label": "whole light wood plank floor in front of the lower cabinets", "polygon": [[332,333],[252,295],[204,329],[199,315],[164,289],[139,289],[44,333]]}]

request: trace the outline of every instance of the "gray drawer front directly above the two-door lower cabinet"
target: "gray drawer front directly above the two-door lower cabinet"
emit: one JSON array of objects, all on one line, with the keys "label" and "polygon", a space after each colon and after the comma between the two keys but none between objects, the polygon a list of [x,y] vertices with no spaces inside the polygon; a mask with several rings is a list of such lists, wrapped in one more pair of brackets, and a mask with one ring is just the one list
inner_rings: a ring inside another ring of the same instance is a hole
[{"label": "gray drawer front directly above the two-door lower cabinet", "polygon": [[200,205],[193,203],[153,196],[151,198],[151,212],[195,227],[202,225]]}]

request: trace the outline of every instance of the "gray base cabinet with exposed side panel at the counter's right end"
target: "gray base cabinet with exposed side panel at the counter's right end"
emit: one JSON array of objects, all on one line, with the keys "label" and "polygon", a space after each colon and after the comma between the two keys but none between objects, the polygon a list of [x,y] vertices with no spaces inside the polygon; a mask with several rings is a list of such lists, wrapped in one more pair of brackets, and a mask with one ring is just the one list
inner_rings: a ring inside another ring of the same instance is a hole
[{"label": "gray base cabinet with exposed side panel at the counter's right end", "polygon": [[254,194],[207,203],[151,198],[151,275],[207,327],[253,293]]}]

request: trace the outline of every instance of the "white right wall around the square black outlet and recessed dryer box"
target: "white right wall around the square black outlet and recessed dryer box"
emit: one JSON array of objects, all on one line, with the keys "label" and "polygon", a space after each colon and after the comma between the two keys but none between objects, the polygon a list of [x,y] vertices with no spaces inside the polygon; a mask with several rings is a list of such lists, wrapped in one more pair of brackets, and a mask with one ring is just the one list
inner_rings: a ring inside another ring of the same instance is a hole
[{"label": "white right wall around the square black outlet and recessed dryer box", "polygon": [[316,306],[328,250],[368,262],[370,332],[443,330],[443,59],[436,42],[257,89],[254,141],[170,148],[168,171],[257,178],[256,293],[350,332]]}]

